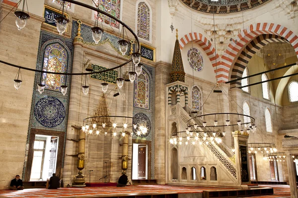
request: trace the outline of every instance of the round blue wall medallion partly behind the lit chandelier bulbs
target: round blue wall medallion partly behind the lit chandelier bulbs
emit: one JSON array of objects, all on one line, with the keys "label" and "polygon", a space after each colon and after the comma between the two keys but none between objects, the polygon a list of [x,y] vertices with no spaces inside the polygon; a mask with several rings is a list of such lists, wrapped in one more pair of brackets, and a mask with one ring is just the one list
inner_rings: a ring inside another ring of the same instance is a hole
[{"label": "round blue wall medallion partly behind the lit chandelier bulbs", "polygon": [[[147,137],[151,131],[151,122],[150,122],[149,117],[144,113],[137,113],[136,115],[134,115],[134,118],[138,118],[138,119],[133,119],[133,124],[138,124],[136,129],[133,127],[134,134],[141,138]],[[146,127],[147,133],[143,134],[141,132],[141,135],[138,135],[138,131],[141,131],[139,129],[140,126]]]}]

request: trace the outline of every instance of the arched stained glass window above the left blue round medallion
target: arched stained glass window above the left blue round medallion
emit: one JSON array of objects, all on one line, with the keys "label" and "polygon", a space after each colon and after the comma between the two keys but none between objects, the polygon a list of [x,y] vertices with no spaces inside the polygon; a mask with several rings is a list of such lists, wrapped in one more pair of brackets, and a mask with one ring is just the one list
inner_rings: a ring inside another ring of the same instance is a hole
[{"label": "arched stained glass window above the left blue round medallion", "polygon": [[[67,55],[64,48],[59,44],[52,44],[46,47],[44,52],[43,71],[65,72]],[[42,84],[45,89],[60,91],[64,85],[65,76],[43,73]]]}]

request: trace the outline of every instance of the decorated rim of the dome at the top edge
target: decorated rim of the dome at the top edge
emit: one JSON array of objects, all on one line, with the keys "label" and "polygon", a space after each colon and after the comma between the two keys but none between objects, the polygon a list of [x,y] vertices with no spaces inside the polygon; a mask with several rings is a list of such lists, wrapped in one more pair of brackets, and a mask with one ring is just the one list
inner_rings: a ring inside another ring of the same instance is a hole
[{"label": "decorated rim of the dome at the top edge", "polygon": [[[228,14],[262,5],[270,0],[181,0],[194,10],[205,13]],[[192,4],[192,5],[191,5]]]}]

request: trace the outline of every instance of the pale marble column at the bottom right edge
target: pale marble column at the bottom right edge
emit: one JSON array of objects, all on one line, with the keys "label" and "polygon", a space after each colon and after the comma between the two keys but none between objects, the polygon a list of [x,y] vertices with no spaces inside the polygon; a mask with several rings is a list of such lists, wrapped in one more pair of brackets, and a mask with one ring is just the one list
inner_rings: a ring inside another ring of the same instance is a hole
[{"label": "pale marble column at the bottom right edge", "polygon": [[287,166],[289,172],[289,183],[291,190],[291,198],[298,198],[297,185],[296,185],[296,171],[295,163],[293,162],[292,155],[287,152]]}]

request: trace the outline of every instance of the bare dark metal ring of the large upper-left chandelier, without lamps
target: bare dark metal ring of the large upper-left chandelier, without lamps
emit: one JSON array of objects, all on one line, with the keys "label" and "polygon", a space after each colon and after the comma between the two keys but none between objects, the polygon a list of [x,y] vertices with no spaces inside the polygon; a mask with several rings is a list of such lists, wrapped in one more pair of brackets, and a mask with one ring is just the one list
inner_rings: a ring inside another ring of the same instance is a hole
[{"label": "bare dark metal ring of the large upper-left chandelier, without lamps", "polygon": [[[121,25],[123,25],[128,31],[130,31],[130,33],[132,33],[132,35],[135,37],[136,39],[136,51],[138,52],[140,50],[140,41],[138,39],[138,36],[134,33],[134,31],[128,26],[126,25],[124,22],[122,22],[120,19],[114,17],[113,15],[103,11],[103,10],[100,10],[100,9],[97,9],[96,7],[93,7],[91,5],[87,5],[85,3],[82,3],[82,2],[78,2],[76,0],[64,0],[66,2],[70,2],[70,3],[74,3],[74,4],[77,4],[79,6],[82,6],[82,7],[85,7],[85,8],[88,8],[88,9],[91,9],[91,10],[94,10],[96,12],[100,12],[101,14],[105,15],[105,16],[108,16],[114,20],[116,20],[117,22],[119,22]],[[56,75],[67,75],[67,76],[74,76],[74,75],[90,75],[90,74],[100,74],[100,73],[103,73],[103,72],[107,72],[107,71],[111,71],[111,70],[114,70],[114,69],[118,69],[128,63],[130,63],[133,59],[129,59],[128,61],[126,61],[125,63],[123,64],[120,64],[116,67],[113,67],[113,68],[109,68],[109,69],[106,69],[106,70],[103,70],[103,71],[94,71],[94,72],[88,72],[88,73],[61,73],[61,72],[51,72],[51,71],[43,71],[43,70],[38,70],[38,69],[31,69],[31,68],[28,68],[28,67],[23,67],[23,66],[19,66],[19,65],[16,65],[16,64],[12,64],[12,63],[8,63],[8,62],[5,62],[5,61],[2,61],[0,60],[0,63],[3,63],[3,64],[6,64],[6,65],[9,65],[9,66],[12,66],[12,67],[17,67],[19,69],[24,69],[24,70],[29,70],[29,71],[35,71],[35,72],[38,72],[38,73],[47,73],[47,74],[56,74]]]}]

